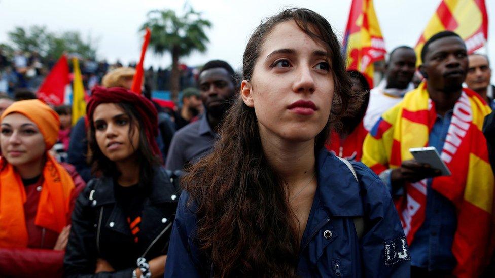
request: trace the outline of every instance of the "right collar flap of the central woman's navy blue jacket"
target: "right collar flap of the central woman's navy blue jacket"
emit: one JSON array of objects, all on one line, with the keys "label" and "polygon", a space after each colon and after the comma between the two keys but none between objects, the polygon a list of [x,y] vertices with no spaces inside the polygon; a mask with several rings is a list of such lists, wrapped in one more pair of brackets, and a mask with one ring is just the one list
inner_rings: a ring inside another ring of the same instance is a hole
[{"label": "right collar flap of the central woman's navy blue jacket", "polygon": [[[330,216],[362,216],[360,184],[350,169],[327,149],[317,156],[319,200]],[[359,175],[358,175],[359,179]]]}]

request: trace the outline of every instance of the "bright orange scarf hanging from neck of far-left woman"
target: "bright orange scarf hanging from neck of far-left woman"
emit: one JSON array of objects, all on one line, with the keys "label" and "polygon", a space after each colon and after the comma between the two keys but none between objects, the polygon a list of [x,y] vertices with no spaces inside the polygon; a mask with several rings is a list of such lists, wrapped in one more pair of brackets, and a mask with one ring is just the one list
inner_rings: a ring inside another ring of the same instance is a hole
[{"label": "bright orange scarf hanging from neck of far-left woman", "polygon": [[[0,171],[0,247],[27,247],[24,218],[26,192],[14,167],[6,161]],[[69,223],[70,195],[75,185],[67,171],[47,153],[43,185],[34,223],[56,232]]]}]

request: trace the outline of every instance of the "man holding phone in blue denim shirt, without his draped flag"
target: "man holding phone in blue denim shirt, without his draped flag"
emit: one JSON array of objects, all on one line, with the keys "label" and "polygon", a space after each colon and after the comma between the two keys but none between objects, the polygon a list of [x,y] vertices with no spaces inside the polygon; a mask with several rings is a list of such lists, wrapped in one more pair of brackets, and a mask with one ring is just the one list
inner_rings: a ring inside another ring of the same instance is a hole
[{"label": "man holding phone in blue denim shirt, without his draped flag", "polygon": [[[452,109],[462,94],[462,83],[468,70],[466,46],[455,33],[441,32],[425,44],[421,60],[420,71],[426,78],[426,88],[437,112],[428,145],[440,153],[451,124]],[[363,156],[366,155],[364,151]],[[457,265],[452,253],[457,229],[456,208],[445,196],[432,189],[432,180],[439,172],[430,165],[405,160],[400,167],[380,174],[393,196],[402,196],[406,183],[427,179],[426,216],[410,244],[412,277],[450,275]]]}]

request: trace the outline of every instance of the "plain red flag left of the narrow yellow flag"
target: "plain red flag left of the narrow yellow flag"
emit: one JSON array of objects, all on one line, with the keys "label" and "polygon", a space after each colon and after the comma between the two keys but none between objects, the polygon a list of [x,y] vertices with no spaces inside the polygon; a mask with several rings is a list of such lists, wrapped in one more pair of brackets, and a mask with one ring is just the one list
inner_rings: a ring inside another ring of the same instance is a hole
[{"label": "plain red flag left of the narrow yellow flag", "polygon": [[65,86],[69,82],[69,65],[67,63],[67,57],[62,54],[38,89],[36,96],[46,103],[62,105]]}]

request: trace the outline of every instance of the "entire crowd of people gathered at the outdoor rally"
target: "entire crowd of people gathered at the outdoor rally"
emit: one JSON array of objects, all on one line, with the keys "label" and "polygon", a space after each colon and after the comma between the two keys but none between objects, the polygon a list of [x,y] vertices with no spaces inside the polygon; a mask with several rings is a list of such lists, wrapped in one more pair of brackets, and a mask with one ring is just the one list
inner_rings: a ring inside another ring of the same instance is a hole
[{"label": "entire crowd of people gathered at the outdoor rally", "polygon": [[417,58],[394,49],[370,89],[328,21],[291,8],[255,29],[241,73],[192,73],[175,110],[146,89],[160,71],[132,92],[132,67],[93,67],[74,126],[70,106],[5,91],[0,276],[493,275],[489,60],[451,31]]}]

